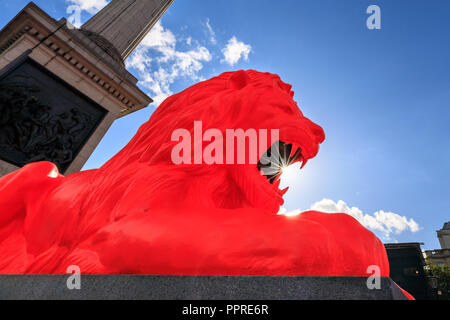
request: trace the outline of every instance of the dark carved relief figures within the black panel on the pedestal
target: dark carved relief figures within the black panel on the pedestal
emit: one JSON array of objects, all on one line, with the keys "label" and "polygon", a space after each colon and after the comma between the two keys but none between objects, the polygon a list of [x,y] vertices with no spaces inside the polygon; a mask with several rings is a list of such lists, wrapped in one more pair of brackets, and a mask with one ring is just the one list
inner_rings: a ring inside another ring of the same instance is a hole
[{"label": "dark carved relief figures within the black panel on the pedestal", "polygon": [[0,156],[10,160],[20,153],[23,159],[15,161],[19,165],[47,160],[60,167],[73,160],[77,136],[92,127],[92,119],[76,108],[55,113],[37,98],[38,91],[0,86]]}]

